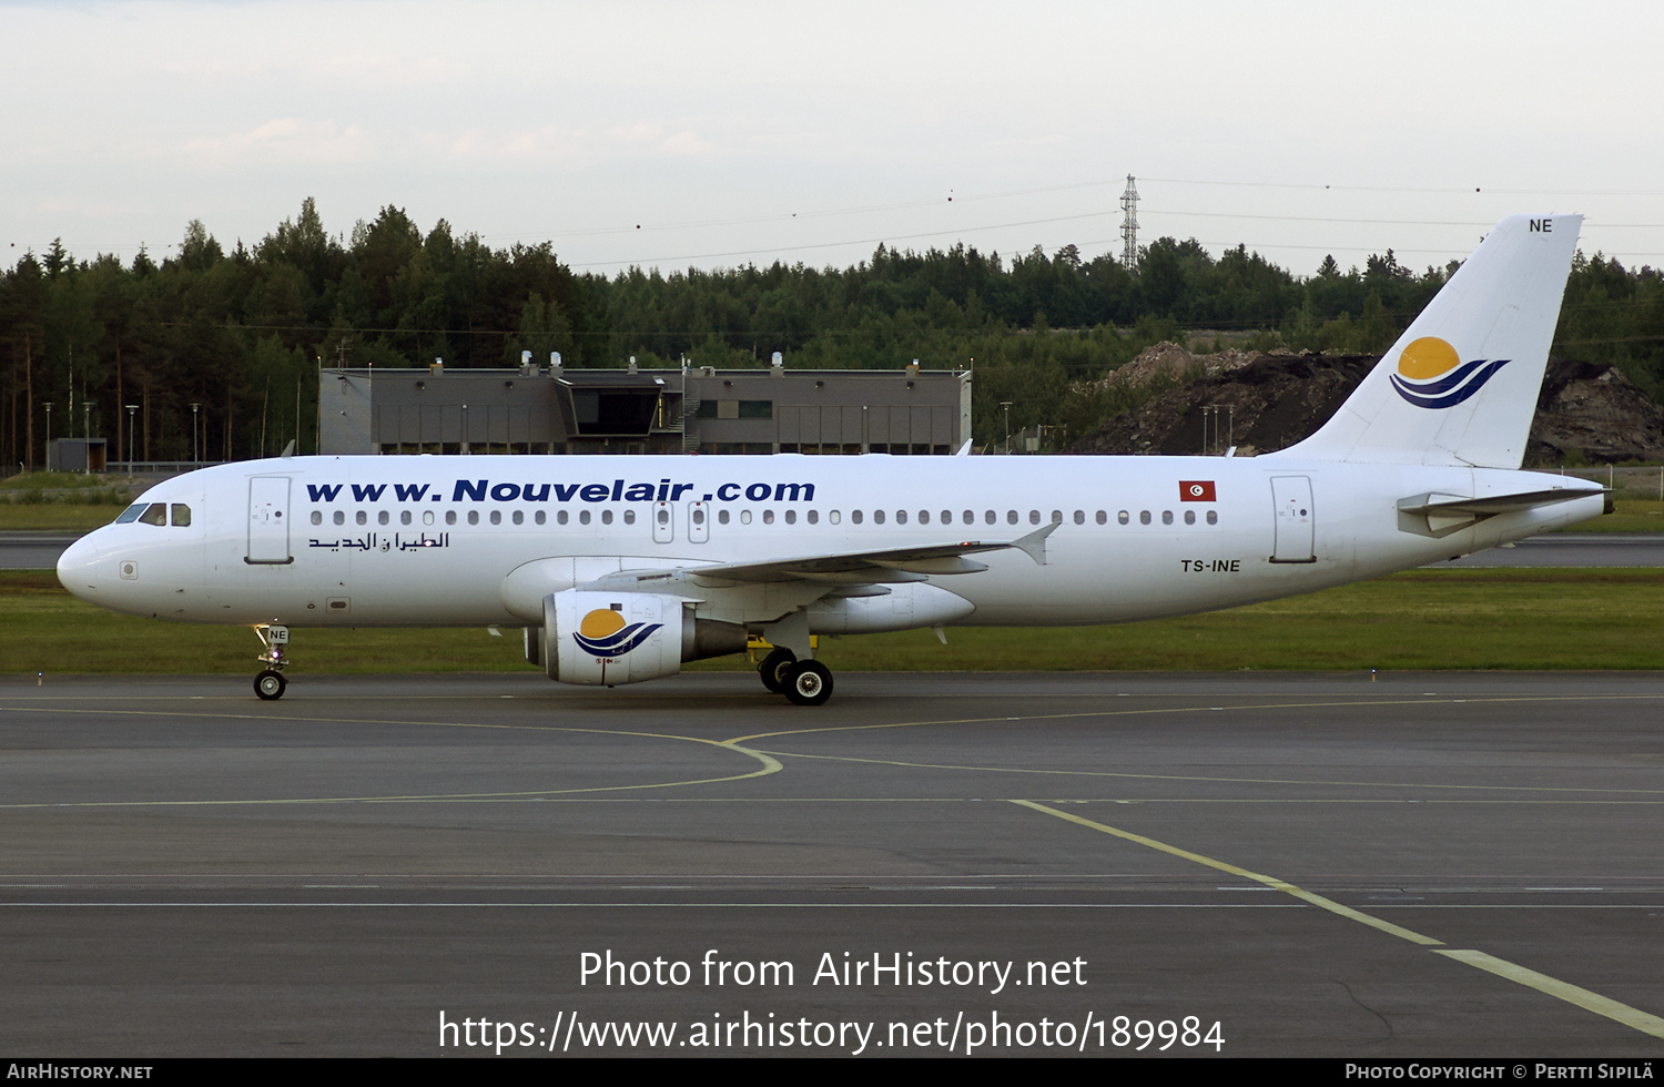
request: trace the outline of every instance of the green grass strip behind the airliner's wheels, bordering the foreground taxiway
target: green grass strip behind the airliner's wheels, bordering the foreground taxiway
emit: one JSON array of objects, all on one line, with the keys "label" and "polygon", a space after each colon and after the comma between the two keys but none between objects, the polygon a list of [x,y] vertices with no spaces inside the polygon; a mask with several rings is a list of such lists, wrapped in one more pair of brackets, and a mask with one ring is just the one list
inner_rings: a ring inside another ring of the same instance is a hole
[{"label": "green grass strip behind the airliner's wheels, bordering the foreground taxiway", "polygon": [[[116,616],[0,573],[0,673],[250,673],[240,628]],[[519,631],[295,628],[311,673],[521,671]],[[1183,619],[824,638],[834,671],[1664,669],[1664,569],[1434,569]],[[689,671],[745,668],[742,658]]]}]

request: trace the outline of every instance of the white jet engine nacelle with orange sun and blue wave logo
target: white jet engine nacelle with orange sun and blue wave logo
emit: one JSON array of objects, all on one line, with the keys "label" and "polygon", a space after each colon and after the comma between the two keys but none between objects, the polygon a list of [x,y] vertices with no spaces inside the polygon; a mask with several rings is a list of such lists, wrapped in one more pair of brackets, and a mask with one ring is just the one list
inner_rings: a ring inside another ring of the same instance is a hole
[{"label": "white jet engine nacelle with orange sun and blue wave logo", "polygon": [[539,649],[549,679],[614,687],[674,676],[682,661],[744,653],[745,628],[696,619],[692,601],[679,596],[566,589],[542,599]]}]

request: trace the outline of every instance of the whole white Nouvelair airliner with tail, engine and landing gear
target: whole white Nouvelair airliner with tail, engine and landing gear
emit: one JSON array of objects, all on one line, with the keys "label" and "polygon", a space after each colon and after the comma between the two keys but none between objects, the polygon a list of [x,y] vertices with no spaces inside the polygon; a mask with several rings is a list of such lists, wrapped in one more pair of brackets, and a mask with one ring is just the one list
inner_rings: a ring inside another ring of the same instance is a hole
[{"label": "whole white Nouvelair airliner with tail, engine and landing gear", "polygon": [[1256,458],[306,456],[146,491],[58,563],[113,611],[255,628],[519,626],[551,679],[627,684],[810,636],[1125,623],[1374,578],[1597,516],[1519,471],[1577,215],[1504,220],[1316,434]]}]

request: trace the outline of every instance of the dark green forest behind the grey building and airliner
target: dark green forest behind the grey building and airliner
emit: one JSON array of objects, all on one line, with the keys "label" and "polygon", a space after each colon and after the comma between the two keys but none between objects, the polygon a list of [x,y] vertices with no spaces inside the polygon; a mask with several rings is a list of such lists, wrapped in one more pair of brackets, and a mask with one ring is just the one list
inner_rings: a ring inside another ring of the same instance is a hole
[{"label": "dark green forest behind the grey building and airliner", "polygon": [[[1132,406],[1093,383],[1161,340],[1191,350],[1384,351],[1458,266],[1393,250],[1296,276],[1238,246],[1158,238],[1137,275],[1073,245],[1002,256],[879,246],[852,268],[574,275],[552,246],[491,248],[399,208],[331,235],[311,200],[230,250],[193,221],[168,256],[53,243],[0,278],[3,471],[83,431],[110,459],[241,459],[316,448],[319,366],[765,366],[975,371],[978,441],[1010,426],[1085,434]],[[1664,393],[1664,273],[1579,253],[1554,353],[1617,363]],[[52,414],[48,418],[48,405]],[[131,424],[130,424],[131,419]]]}]

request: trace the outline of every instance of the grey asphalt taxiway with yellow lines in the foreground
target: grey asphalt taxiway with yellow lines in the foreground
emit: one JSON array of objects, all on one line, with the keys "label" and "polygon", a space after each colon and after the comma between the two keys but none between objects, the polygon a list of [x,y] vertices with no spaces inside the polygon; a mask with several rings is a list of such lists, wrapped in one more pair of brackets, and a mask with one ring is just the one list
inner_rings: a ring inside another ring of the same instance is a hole
[{"label": "grey asphalt taxiway with yellow lines in the foreground", "polygon": [[1659,674],[246,687],[0,681],[0,1049],[1664,1050]]}]

